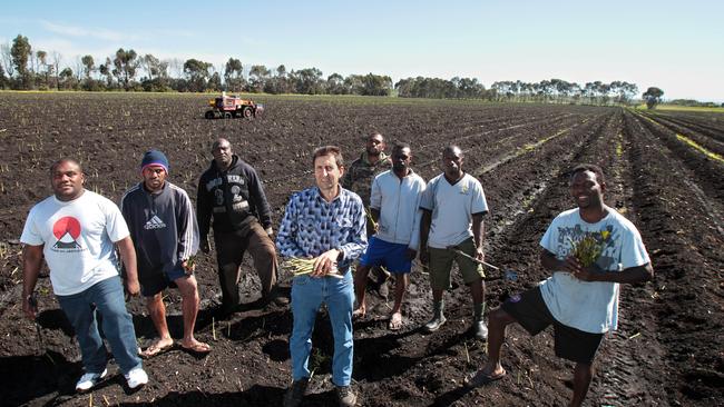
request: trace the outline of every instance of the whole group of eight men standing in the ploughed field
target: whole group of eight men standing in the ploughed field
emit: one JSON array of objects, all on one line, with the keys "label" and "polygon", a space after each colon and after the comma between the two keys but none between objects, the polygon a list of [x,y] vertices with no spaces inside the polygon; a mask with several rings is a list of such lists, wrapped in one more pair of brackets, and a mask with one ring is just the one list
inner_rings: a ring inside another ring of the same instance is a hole
[{"label": "whole group of eight men standing in the ploughed field", "polygon": [[[500,364],[505,328],[520,324],[532,335],[555,327],[556,354],[576,363],[571,405],[580,405],[593,376],[593,360],[605,332],[616,328],[618,284],[639,282],[653,269],[636,228],[603,200],[603,171],[595,166],[571,171],[570,191],[577,208],[558,216],[541,239],[541,265],[552,276],[539,287],[512,296],[483,321],[483,217],[488,205],[482,186],[462,170],[463,151],[442,150],[442,173],[425,182],[412,168],[412,150],[395,143],[384,153],[380,133],[366,139],[362,156],[348,167],[339,147],[319,148],[312,156],[315,185],[294,193],[281,221],[276,248],[284,258],[311,259],[310,274],[292,281],[293,327],[290,338],[293,383],[285,406],[299,406],[311,371],[312,330],[325,306],[334,337],[332,381],[341,406],[354,406],[351,388],[353,319],[366,312],[370,272],[378,287],[394,276],[394,306],[389,328],[403,326],[402,302],[412,262],[419,258],[430,276],[432,317],[423,326],[433,332],[446,322],[443,292],[451,287],[456,262],[472,297],[472,334],[488,339],[489,358],[466,380],[477,387],[506,375]],[[80,165],[62,159],[51,168],[55,195],[33,207],[21,241],[23,309],[33,318],[32,291],[42,257],[58,301],[74,325],[86,374],[77,389],[88,390],[107,373],[106,348],[96,312],[128,386],[148,380],[137,355],[135,332],[116,271],[118,248],[126,289],[146,297],[159,339],[141,351],[153,356],[173,346],[160,292],[178,287],[184,315],[183,348],[207,353],[194,338],[199,298],[194,278],[197,249],[208,252],[213,227],[222,287],[222,310],[239,304],[241,261],[250,251],[262,282],[262,304],[286,304],[276,288],[277,258],[271,210],[255,170],[235,156],[228,140],[213,147],[214,160],[199,180],[197,216],[187,193],[166,180],[169,165],[157,150],[141,160],[143,180],[121,199],[120,210],[82,188]],[[352,190],[350,190],[352,189]],[[199,231],[200,229],[200,231]],[[577,238],[604,234],[598,260],[584,267],[574,256]],[[368,242],[368,236],[370,236]],[[380,290],[382,291],[382,290]],[[356,294],[356,295],[355,295]],[[358,306],[354,308],[354,302]]]}]

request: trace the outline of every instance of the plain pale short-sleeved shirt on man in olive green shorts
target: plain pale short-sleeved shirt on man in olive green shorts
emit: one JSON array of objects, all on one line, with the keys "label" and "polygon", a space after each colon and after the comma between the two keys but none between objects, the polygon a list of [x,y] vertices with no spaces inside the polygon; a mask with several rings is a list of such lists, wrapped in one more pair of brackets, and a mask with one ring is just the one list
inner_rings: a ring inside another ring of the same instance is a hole
[{"label": "plain pale short-sleeved shirt on man in olive green shorts", "polygon": [[420,200],[422,209],[432,211],[428,246],[444,249],[472,237],[472,215],[488,211],[482,186],[466,173],[450,185],[441,173],[428,182]]}]

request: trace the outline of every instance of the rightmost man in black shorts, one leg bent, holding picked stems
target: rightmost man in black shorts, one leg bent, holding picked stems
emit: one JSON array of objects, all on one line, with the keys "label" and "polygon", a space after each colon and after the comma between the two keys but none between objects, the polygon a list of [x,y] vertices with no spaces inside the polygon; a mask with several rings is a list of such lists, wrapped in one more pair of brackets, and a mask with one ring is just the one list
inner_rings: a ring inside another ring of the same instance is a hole
[{"label": "rightmost man in black shorts, one leg bent, holding picked stems", "polygon": [[[569,406],[583,404],[598,346],[606,332],[616,329],[619,284],[643,282],[654,276],[638,230],[604,204],[605,191],[599,167],[573,169],[570,193],[578,208],[558,215],[540,240],[540,264],[552,276],[490,312],[488,363],[466,380],[468,387],[506,375],[500,348],[508,325],[518,322],[531,335],[552,325],[556,355],[576,364]],[[597,248],[594,256],[576,256],[584,239]],[[587,261],[591,264],[586,266]]]}]

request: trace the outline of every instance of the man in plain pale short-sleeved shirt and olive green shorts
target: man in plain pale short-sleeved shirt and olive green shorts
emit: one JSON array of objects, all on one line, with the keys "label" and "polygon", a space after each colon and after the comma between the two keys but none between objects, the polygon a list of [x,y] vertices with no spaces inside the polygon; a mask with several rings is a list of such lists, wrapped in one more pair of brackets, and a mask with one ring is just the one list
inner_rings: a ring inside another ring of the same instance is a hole
[{"label": "man in plain pale short-sleeved shirt and olive green shorts", "polygon": [[424,329],[433,332],[446,322],[442,295],[451,287],[450,270],[456,261],[472,296],[471,330],[476,338],[485,340],[488,328],[482,319],[485,274],[481,261],[485,260],[482,217],[488,212],[488,202],[480,181],[462,171],[462,161],[460,147],[446,147],[442,150],[443,172],[428,182],[420,201],[420,260],[429,265],[433,299],[432,319]]}]

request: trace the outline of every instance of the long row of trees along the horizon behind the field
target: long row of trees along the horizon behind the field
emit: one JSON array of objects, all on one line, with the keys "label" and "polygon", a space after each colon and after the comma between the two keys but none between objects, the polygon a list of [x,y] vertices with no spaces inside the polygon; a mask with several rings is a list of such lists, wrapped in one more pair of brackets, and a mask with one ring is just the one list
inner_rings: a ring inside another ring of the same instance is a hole
[{"label": "long row of trees along the horizon behind the field", "polygon": [[[100,62],[100,63],[99,63]],[[35,50],[27,37],[18,34],[0,44],[0,89],[87,91],[232,91],[252,93],[361,95],[401,98],[483,99],[559,103],[629,105],[638,92],[635,83],[587,82],[583,86],[561,79],[540,82],[497,81],[490,89],[474,78],[405,78],[397,83],[374,73],[324,78],[317,68],[287,70],[244,66],[229,58],[218,67],[198,59],[159,59],[119,48],[102,61],[92,56],[63,60],[58,52]],[[663,92],[662,92],[663,93]],[[644,99],[646,97],[644,96]]]}]

